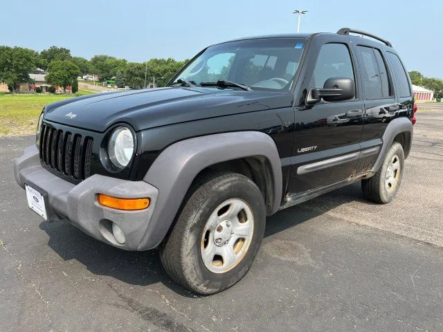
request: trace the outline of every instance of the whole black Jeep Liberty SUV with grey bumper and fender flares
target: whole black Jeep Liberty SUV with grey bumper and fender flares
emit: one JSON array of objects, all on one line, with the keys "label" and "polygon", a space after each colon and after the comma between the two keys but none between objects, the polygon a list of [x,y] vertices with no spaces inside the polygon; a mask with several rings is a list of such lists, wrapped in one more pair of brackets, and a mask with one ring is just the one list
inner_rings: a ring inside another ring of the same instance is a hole
[{"label": "whole black Jeep Liberty SUV with grey bumper and fender flares", "polygon": [[415,110],[380,37],[237,39],[202,50],[165,88],[47,105],[15,177],[44,219],[158,248],[172,278],[213,294],[247,273],[266,216],[355,181],[390,202]]}]

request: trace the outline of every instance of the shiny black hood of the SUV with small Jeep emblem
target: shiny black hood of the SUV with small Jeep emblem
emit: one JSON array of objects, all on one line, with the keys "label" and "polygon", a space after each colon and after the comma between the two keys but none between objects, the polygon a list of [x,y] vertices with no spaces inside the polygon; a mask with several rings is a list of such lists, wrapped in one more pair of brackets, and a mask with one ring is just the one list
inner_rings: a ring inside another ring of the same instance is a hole
[{"label": "shiny black hood of the SUV with small Jeep emblem", "polygon": [[127,122],[136,131],[167,124],[291,106],[293,95],[216,88],[98,93],[46,106],[45,119],[93,131]]}]

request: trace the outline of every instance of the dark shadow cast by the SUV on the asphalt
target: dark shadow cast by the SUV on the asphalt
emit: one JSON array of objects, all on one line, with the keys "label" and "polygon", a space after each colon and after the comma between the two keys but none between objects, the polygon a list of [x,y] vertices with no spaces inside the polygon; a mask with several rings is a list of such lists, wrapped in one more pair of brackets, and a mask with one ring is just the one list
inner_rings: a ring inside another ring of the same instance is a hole
[{"label": "dark shadow cast by the SUV on the asphalt", "polygon": [[[266,219],[264,237],[269,237],[350,201],[363,201],[360,183],[330,192],[319,198],[282,210]],[[66,221],[42,222],[48,246],[65,261],[75,259],[95,275],[107,275],[131,285],[149,286],[161,282],[172,291],[195,297],[174,282],[163,270],[157,250],[131,252],[102,243]]]}]

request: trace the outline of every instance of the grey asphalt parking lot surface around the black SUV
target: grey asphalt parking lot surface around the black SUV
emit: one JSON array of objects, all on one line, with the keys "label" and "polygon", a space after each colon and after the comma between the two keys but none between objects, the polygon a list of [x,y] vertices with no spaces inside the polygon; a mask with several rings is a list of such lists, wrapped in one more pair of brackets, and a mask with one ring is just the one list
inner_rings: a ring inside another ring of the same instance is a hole
[{"label": "grey asphalt parking lot surface around the black SUV", "polygon": [[356,183],[271,216],[248,275],[210,297],[154,250],[30,211],[12,163],[31,144],[0,139],[0,331],[443,330],[443,109],[417,113],[395,201],[365,202]]}]

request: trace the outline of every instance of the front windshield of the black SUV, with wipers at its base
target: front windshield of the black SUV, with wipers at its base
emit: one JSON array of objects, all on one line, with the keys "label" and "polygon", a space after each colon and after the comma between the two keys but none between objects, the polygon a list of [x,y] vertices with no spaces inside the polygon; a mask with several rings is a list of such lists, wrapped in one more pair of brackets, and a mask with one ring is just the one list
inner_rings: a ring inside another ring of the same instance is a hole
[{"label": "front windshield of the black SUV, with wipers at its base", "polygon": [[[298,38],[269,38],[210,46],[190,62],[172,84],[179,80],[196,86],[202,82],[228,81],[252,90],[289,91],[305,42],[306,39]],[[237,88],[224,86],[224,89]]]}]

